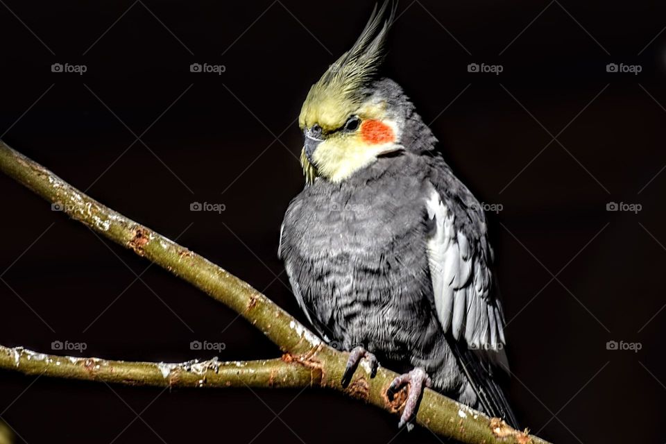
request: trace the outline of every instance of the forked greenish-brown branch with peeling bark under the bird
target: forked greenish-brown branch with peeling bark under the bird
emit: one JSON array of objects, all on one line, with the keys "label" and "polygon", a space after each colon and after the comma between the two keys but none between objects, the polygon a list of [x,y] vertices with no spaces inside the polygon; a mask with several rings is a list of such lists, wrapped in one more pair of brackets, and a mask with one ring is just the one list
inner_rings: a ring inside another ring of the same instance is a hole
[{"label": "forked greenish-brown branch with peeling bark under the bird", "polygon": [[[204,386],[321,386],[341,391],[394,414],[400,413],[404,407],[404,391],[401,392],[402,396],[398,395],[392,402],[386,398],[386,389],[397,374],[379,368],[376,377],[370,378],[370,367],[365,360],[361,361],[350,384],[343,387],[341,377],[347,354],[323,343],[296,318],[250,284],[144,225],[105,207],[3,142],[0,142],[0,170],[51,203],[60,205],[63,212],[72,219],[130,248],[137,255],[146,257],[227,305],[255,325],[284,352],[281,359],[243,363],[244,371],[234,363],[105,361],[97,358],[55,357],[2,347],[0,368],[27,374],[43,373],[54,377],[155,386],[200,386],[202,376],[205,376]],[[164,372],[170,366],[173,370],[169,370],[165,377]],[[188,366],[190,370],[187,370]],[[197,370],[192,371],[192,366],[198,366]],[[203,373],[200,373],[201,366],[205,367]],[[546,443],[430,389],[423,394],[415,422],[438,435],[462,443]]]}]

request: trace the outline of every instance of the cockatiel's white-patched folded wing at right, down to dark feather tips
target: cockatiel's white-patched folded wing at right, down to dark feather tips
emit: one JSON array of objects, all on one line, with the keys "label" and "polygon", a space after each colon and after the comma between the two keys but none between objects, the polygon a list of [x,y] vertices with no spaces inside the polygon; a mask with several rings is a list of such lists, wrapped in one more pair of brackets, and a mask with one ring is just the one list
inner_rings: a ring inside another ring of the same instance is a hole
[{"label": "cockatiel's white-patched folded wing at right, down to dark feather tips", "polygon": [[476,231],[463,232],[455,218],[468,215],[461,214],[460,208],[456,211],[447,206],[434,187],[426,208],[433,228],[427,253],[437,317],[444,332],[452,334],[451,348],[484,411],[518,427],[499,386],[499,379],[505,375],[495,371],[499,366],[508,373],[509,364],[504,351],[504,314],[493,288],[485,222],[472,225]]}]

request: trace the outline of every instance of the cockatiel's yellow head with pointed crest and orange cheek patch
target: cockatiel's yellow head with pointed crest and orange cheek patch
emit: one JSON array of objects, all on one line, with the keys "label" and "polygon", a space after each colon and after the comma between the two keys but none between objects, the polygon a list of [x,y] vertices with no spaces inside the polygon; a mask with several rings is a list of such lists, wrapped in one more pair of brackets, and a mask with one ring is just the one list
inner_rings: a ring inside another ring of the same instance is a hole
[{"label": "cockatiel's yellow head with pointed crest and orange cheek patch", "polygon": [[393,11],[383,23],[386,4],[373,10],[352,49],[312,85],[298,125],[305,144],[300,162],[308,183],[316,177],[341,182],[378,155],[400,148],[400,128],[381,92],[370,82],[383,58]]}]

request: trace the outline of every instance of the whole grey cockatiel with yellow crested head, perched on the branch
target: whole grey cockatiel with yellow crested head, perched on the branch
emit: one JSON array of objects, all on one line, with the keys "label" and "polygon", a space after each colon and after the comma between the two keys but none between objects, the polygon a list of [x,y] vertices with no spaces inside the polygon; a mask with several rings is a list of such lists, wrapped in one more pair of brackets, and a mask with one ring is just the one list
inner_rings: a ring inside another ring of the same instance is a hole
[{"label": "whole grey cockatiel with yellow crested head, perched on the branch", "polygon": [[[400,86],[377,71],[395,10],[386,3],[302,105],[306,185],[289,204],[278,255],[311,324],[359,360],[405,372],[400,426],[425,386],[517,427],[504,314],[486,218]],[[388,17],[384,17],[388,14]]]}]

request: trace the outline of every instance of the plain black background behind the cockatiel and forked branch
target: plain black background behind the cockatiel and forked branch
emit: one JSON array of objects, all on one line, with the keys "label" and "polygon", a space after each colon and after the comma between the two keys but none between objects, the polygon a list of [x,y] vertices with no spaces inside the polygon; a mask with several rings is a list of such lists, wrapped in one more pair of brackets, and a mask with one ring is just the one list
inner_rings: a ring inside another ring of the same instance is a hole
[{"label": "plain black background behind the cockatiel and forked branch", "polygon": [[[305,321],[276,257],[303,185],[294,121],[373,2],[0,3],[2,139]],[[479,200],[502,205],[490,230],[522,424],[557,443],[665,441],[666,5],[403,0],[399,12],[388,75]],[[87,72],[53,73],[56,62]],[[191,73],[194,62],[226,71]],[[472,62],[504,70],[470,73]],[[128,360],[278,356],[196,289],[5,176],[0,190],[3,345],[85,342],[82,355]],[[191,212],[192,202],[226,210]],[[609,202],[642,210],[608,212]],[[225,350],[190,350],[195,340]],[[438,442],[325,391],[161,391],[8,371],[0,416],[28,443]]]}]

